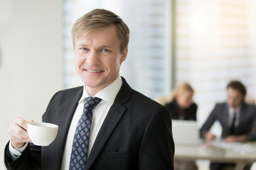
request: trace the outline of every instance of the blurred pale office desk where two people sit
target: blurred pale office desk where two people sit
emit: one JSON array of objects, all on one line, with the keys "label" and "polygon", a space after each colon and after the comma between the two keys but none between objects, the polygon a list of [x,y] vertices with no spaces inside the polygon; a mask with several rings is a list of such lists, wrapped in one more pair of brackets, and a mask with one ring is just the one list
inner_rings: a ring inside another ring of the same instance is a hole
[{"label": "blurred pale office desk where two people sit", "polygon": [[240,154],[238,152],[233,152],[231,149],[214,147],[209,143],[175,146],[174,160],[194,162],[197,159],[207,159],[210,160],[210,162],[219,163],[235,163],[235,170],[242,170],[246,164],[256,162],[256,152]]}]

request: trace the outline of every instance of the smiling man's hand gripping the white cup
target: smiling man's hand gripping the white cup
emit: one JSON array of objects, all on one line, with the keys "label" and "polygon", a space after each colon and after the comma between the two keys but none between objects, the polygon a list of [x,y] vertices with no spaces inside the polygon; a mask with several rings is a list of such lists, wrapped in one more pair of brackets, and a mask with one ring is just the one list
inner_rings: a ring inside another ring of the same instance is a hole
[{"label": "smiling man's hand gripping the white cup", "polygon": [[10,123],[7,134],[14,148],[21,148],[26,142],[31,142],[26,132],[30,122],[33,122],[33,120],[26,121],[23,118],[16,118],[13,123]]}]

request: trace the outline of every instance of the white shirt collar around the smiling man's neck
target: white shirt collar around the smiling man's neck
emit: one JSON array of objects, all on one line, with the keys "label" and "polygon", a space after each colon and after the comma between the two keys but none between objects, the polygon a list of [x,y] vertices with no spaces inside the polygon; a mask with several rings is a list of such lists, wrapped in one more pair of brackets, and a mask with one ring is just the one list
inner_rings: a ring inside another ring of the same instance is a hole
[{"label": "white shirt collar around the smiling man's neck", "polygon": [[[103,101],[107,101],[107,103],[112,105],[114,103],[114,99],[116,98],[118,91],[121,89],[121,86],[122,86],[122,78],[118,76],[117,79],[112,82],[112,84],[106,86],[104,89],[99,91],[97,94],[95,94],[94,97],[101,98]],[[84,98],[87,98],[87,97],[90,97],[90,95],[87,93],[84,85],[83,91],[82,91],[82,97],[80,98],[80,101],[78,103],[83,102]]]}]

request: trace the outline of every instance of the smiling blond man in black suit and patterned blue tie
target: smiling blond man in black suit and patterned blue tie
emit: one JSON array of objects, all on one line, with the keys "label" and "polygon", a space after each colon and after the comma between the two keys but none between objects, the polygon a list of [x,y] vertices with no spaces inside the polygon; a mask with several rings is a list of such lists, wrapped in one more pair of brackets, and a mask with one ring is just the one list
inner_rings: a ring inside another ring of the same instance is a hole
[{"label": "smiling blond man in black suit and patterned blue tie", "polygon": [[27,144],[32,120],[17,118],[9,125],[7,169],[174,169],[169,112],[119,76],[128,52],[127,25],[110,11],[95,9],[75,22],[72,35],[84,86],[51,99],[43,122],[58,125],[59,132],[48,147]]}]

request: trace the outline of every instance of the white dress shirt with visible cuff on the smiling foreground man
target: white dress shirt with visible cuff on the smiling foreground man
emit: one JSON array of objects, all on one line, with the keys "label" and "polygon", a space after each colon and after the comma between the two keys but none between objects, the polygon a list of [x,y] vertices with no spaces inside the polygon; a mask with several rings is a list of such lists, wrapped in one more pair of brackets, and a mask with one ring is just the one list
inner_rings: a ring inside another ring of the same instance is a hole
[{"label": "white dress shirt with visible cuff on the smiling foreground man", "polygon": [[[114,99],[116,98],[118,91],[121,89],[121,86],[122,86],[122,78],[119,76],[119,77],[117,77],[117,79],[114,82],[112,82],[112,84],[105,87],[105,89],[102,89],[97,94],[95,94],[95,97],[101,98],[102,101],[100,101],[100,103],[97,104],[97,106],[92,110],[92,124],[91,124],[91,129],[90,129],[90,139],[89,139],[87,157],[90,156],[90,151],[95,142],[97,134],[100,131],[102,123],[104,122],[108,111],[110,111],[110,107],[114,103]],[[78,102],[78,107],[75,110],[73,119],[70,123],[70,128],[68,130],[68,137],[67,137],[67,140],[65,143],[65,149],[64,149],[64,153],[63,153],[63,162],[61,165],[62,170],[69,169],[70,155],[71,155],[71,149],[73,146],[73,138],[75,135],[75,128],[77,127],[78,120],[80,119],[80,116],[82,115],[84,99],[89,96],[90,95],[87,93],[85,86],[84,86],[84,89],[82,92],[82,97],[80,98],[80,101]],[[18,157],[22,154],[23,150],[27,146],[28,146],[28,144],[24,145],[20,149],[14,149],[14,147],[11,146],[11,142],[10,142],[9,150],[10,150],[12,159],[13,160],[18,159]]]}]

